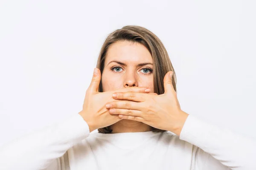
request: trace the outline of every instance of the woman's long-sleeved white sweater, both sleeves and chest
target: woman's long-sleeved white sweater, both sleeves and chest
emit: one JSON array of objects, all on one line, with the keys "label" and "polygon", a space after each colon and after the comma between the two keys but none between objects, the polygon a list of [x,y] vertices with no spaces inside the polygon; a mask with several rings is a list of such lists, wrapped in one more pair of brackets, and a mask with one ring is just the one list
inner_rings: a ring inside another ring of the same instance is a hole
[{"label": "woman's long-sleeved white sweater, both sleeves and chest", "polygon": [[0,170],[256,170],[256,142],[191,114],[174,133],[90,133],[79,115],[0,149]]}]

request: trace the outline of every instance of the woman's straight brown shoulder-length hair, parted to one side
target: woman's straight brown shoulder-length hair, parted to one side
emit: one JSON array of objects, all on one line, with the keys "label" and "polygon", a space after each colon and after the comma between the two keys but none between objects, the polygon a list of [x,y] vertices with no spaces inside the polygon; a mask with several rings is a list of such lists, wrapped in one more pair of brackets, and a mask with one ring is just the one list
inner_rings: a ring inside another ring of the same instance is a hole
[{"label": "woman's straight brown shoulder-length hair, parted to one side", "polygon": [[[168,71],[173,71],[172,85],[176,91],[176,75],[166,48],[154,33],[141,26],[124,26],[121,29],[117,29],[108,34],[108,37],[106,38],[100,50],[96,66],[100,69],[101,73],[104,69],[105,57],[108,48],[111,46],[111,44],[117,41],[138,42],[148,49],[153,59],[154,93],[164,93],[163,78]],[[100,81],[99,84],[99,92],[102,92],[102,81]],[[153,132],[166,131],[154,127],[152,129]],[[99,128],[98,132],[111,133],[112,129],[110,126],[103,127]]]}]

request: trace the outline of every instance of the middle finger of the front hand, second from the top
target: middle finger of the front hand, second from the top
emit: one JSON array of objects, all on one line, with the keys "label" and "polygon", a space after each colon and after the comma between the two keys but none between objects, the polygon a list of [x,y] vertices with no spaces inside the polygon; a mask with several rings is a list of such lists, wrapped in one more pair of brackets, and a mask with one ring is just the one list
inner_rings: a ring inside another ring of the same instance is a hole
[{"label": "middle finger of the front hand, second from the top", "polygon": [[128,101],[128,100],[119,100],[119,101],[114,101],[114,102],[107,103],[106,108],[107,109],[117,108],[117,109],[140,110],[140,108],[143,108],[143,102],[133,102],[133,101]]}]

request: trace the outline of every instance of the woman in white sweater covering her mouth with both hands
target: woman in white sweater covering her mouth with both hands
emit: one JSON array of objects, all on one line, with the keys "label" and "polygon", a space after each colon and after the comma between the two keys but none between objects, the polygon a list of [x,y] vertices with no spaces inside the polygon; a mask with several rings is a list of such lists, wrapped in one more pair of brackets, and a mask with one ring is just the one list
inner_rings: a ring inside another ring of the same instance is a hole
[{"label": "woman in white sweater covering her mouth with both hands", "polygon": [[182,111],[162,42],[124,26],[102,46],[82,111],[4,146],[0,169],[253,170],[255,153],[253,140]]}]

